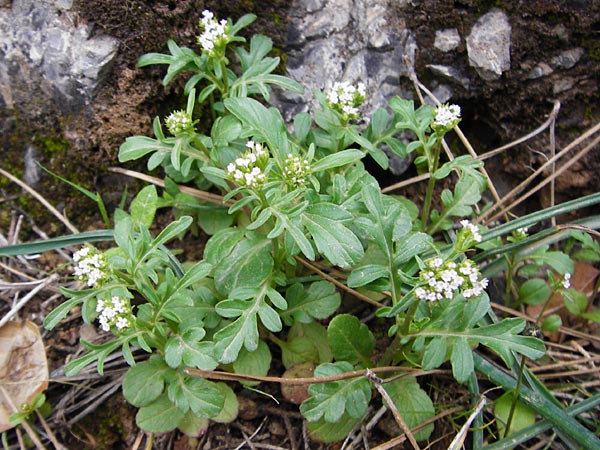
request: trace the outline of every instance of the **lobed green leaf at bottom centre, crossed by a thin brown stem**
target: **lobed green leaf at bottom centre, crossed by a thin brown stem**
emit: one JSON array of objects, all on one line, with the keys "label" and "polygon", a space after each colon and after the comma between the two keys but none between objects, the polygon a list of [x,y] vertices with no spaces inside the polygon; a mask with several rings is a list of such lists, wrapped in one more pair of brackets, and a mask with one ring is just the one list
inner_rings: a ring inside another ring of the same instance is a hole
[{"label": "lobed green leaf at bottom centre, crossed by a thin brown stem", "polygon": [[[339,375],[352,369],[352,364],[346,361],[325,363],[315,369],[314,375]],[[311,397],[300,405],[300,412],[309,422],[323,418],[329,423],[335,423],[342,418],[344,412],[358,419],[366,412],[371,401],[371,386],[364,377],[313,384],[308,388],[308,393]]]}]

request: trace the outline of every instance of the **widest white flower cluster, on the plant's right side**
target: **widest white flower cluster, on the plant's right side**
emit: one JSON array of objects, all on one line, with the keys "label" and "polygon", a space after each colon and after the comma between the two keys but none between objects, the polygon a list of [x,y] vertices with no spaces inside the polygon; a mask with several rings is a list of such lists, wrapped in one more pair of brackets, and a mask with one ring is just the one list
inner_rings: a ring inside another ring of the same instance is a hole
[{"label": "widest white flower cluster, on the plant's right side", "polygon": [[488,285],[487,278],[481,278],[477,265],[470,259],[457,264],[436,257],[427,260],[425,266],[419,276],[422,285],[415,289],[420,300],[451,300],[459,293],[465,298],[477,297]]}]

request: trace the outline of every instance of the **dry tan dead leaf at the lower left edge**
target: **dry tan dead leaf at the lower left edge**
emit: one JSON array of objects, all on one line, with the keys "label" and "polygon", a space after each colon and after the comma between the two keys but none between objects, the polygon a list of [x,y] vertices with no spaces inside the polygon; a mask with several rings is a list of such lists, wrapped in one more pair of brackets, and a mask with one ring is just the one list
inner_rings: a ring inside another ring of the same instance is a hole
[{"label": "dry tan dead leaf at the lower left edge", "polygon": [[42,336],[29,320],[0,328],[0,432],[12,428],[11,414],[48,387],[48,362]]}]

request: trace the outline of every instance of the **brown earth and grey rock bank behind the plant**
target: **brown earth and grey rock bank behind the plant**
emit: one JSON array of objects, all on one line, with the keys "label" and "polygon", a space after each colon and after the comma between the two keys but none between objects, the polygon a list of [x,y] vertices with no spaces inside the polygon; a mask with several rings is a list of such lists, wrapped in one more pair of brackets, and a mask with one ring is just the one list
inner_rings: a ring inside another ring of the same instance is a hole
[{"label": "brown earth and grey rock bank behind the plant", "polygon": [[[304,96],[275,97],[288,117],[313,106],[312,89],[342,79],[367,84],[367,113],[393,95],[416,98],[414,73],[461,105],[479,153],[539,126],[554,101],[557,149],[600,120],[595,0],[0,0],[0,167],[92,226],[95,206],[34,161],[117,202],[128,180],[107,168],[119,145],[184,104],[181,83],[165,88],[162,67],[135,62],[169,37],[195,47],[205,8],[258,16],[247,34],[271,37],[281,72],[306,86]],[[490,161],[498,183],[508,189],[543,164],[548,142],[544,133]],[[405,169],[399,162],[382,183]],[[559,179],[561,199],[598,191],[599,170],[595,149]],[[0,189],[31,214],[14,185],[0,179]],[[9,209],[0,208],[2,227]]]}]

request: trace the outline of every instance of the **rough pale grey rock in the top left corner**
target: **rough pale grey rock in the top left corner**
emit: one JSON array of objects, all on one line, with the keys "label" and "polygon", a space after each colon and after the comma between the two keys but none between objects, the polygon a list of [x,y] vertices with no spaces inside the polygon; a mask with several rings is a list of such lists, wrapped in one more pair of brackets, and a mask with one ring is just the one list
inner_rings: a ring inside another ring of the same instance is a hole
[{"label": "rough pale grey rock in the top left corner", "polygon": [[[7,108],[55,102],[77,112],[94,96],[118,41],[74,26],[70,0],[19,0],[0,9],[0,96]],[[41,98],[40,98],[41,97]]]}]

